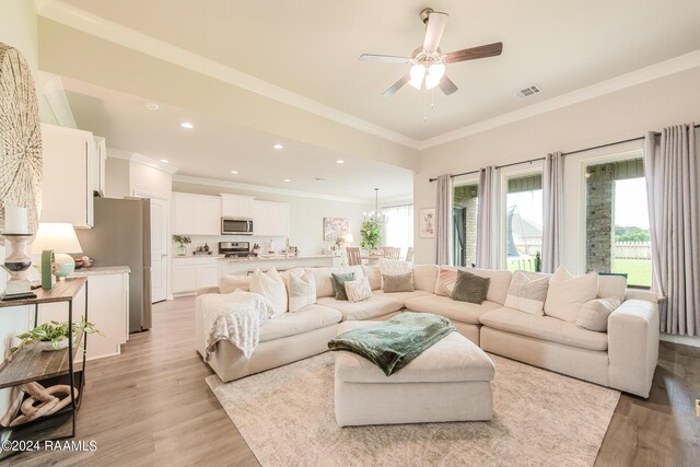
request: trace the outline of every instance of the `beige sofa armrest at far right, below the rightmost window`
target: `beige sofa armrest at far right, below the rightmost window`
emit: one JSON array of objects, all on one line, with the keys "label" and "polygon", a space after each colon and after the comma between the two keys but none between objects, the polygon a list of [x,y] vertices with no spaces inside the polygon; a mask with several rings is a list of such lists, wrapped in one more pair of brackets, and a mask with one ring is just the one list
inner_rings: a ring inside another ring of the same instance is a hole
[{"label": "beige sofa armrest at far right, below the rightmost window", "polygon": [[658,304],[627,300],[608,318],[610,386],[649,397],[658,360]]}]

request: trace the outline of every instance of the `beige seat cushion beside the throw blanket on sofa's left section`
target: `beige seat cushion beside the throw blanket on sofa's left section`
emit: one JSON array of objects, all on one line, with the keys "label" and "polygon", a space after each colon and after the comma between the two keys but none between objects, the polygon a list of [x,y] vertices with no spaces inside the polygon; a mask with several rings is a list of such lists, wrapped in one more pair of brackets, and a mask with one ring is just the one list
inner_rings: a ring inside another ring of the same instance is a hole
[{"label": "beige seat cushion beside the throw blanket on sofa's left section", "polygon": [[328,306],[306,305],[299,312],[284,313],[260,325],[260,342],[296,336],[340,323],[342,315]]}]

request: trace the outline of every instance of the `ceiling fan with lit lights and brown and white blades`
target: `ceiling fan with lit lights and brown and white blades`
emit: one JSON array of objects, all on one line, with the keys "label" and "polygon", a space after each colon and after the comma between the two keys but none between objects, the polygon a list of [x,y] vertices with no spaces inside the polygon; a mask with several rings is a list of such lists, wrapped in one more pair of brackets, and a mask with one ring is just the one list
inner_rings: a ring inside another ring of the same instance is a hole
[{"label": "ceiling fan with lit lights and brown and white blades", "polygon": [[445,65],[458,61],[476,60],[478,58],[495,57],[501,55],[503,43],[488,44],[478,47],[465,48],[462,50],[442,54],[440,51],[440,39],[445,32],[447,24],[447,13],[433,11],[432,8],[423,9],[420,19],[425,24],[425,39],[423,45],[411,54],[411,57],[396,57],[390,55],[362,54],[361,61],[376,61],[382,63],[410,63],[410,71],[401,77],[392,87],[386,90],[383,96],[394,95],[406,83],[417,90],[430,90],[440,86],[445,95],[457,91],[457,86],[445,75]]}]

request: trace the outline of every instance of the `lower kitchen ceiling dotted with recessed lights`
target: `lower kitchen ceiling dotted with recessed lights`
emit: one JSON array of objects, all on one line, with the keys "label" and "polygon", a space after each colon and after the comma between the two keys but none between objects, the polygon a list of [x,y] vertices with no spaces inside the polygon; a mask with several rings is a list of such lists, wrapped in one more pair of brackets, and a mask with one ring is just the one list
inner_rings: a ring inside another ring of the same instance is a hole
[{"label": "lower kitchen ceiling dotted with recessed lights", "polygon": [[[79,128],[106,138],[109,147],[165,159],[182,175],[365,201],[374,200],[375,187],[381,188],[382,200],[412,192],[413,174],[406,168],[282,140],[164,104],[149,110],[141,97],[77,80],[63,78],[62,83]],[[180,128],[183,121],[195,128]],[[284,149],[275,150],[276,143]]]}]

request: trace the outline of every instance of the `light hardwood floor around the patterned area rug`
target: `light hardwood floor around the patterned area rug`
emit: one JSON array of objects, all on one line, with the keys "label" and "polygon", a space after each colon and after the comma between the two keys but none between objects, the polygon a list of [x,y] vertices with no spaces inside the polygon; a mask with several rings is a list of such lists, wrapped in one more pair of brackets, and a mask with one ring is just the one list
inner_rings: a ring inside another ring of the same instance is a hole
[{"label": "light hardwood floor around the patterned area rug", "polygon": [[[89,362],[78,440],[94,453],[24,453],[11,465],[258,465],[205,383],[194,299],[156,304],[153,329]],[[700,349],[662,342],[649,399],[622,395],[596,466],[698,466]]]}]

